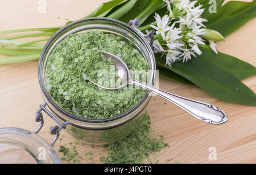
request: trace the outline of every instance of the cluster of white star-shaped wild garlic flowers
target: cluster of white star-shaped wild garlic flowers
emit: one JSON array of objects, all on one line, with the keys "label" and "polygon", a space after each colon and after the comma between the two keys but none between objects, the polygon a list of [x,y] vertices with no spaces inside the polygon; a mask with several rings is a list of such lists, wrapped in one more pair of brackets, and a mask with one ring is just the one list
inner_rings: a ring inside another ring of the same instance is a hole
[{"label": "cluster of white star-shaped wild garlic flowers", "polygon": [[[196,6],[197,1],[189,0],[164,0],[167,4],[169,14],[162,18],[158,14],[155,15],[156,22],[150,27],[156,30],[154,45],[166,54],[166,65],[171,66],[175,61],[183,59],[187,62],[191,56],[202,54],[199,45],[207,43],[210,48],[217,54],[215,44],[208,40],[203,22],[206,19],[200,18],[204,9],[202,5]],[[209,30],[209,29],[208,29]],[[223,37],[217,31],[214,34]]]}]

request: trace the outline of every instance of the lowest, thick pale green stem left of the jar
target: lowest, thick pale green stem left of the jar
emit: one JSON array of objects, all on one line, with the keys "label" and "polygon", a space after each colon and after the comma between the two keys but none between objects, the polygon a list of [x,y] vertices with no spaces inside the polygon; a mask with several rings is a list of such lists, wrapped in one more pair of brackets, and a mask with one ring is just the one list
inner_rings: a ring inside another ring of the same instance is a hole
[{"label": "lowest, thick pale green stem left of the jar", "polygon": [[31,60],[38,59],[39,57],[40,57],[40,53],[28,54],[26,56],[0,57],[0,64],[9,64],[9,63],[31,61]]}]

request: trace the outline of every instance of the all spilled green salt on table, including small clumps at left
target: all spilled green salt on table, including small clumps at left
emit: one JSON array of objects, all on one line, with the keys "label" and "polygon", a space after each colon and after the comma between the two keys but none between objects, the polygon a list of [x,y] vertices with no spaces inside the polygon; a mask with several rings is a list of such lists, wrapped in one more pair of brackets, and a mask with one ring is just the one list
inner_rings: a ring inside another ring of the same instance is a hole
[{"label": "all spilled green salt on table, including small clumps at left", "polygon": [[[101,156],[101,162],[108,164],[134,164],[143,163],[144,160],[147,159],[152,163],[150,155],[154,152],[159,152],[162,148],[167,147],[168,144],[164,143],[163,136],[157,137],[154,135],[150,124],[151,121],[148,114],[143,114],[141,123],[139,123],[138,127],[136,127],[130,135],[118,142],[102,146],[104,150],[98,153],[98,155]],[[70,146],[73,146],[73,144],[70,144]],[[60,146],[59,152],[64,153],[61,160],[68,163],[79,163],[79,158],[81,159],[81,157],[79,157],[77,151],[74,150],[75,147],[72,148],[69,150],[64,146]],[[89,156],[87,163],[92,161],[92,151],[85,152],[85,150],[82,150],[81,152],[83,156]],[[103,156],[104,152],[106,152],[107,155]],[[171,160],[168,159],[166,163]],[[158,163],[158,160],[155,163]]]}]

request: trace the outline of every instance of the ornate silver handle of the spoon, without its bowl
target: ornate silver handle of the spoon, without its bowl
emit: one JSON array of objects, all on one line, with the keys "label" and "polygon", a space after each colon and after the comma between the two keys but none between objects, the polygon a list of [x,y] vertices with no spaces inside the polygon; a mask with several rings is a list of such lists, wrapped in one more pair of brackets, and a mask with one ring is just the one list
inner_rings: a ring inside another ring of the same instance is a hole
[{"label": "ornate silver handle of the spoon, without its bowl", "polygon": [[130,79],[129,84],[134,84],[154,92],[164,99],[171,101],[175,105],[184,109],[188,113],[192,114],[201,121],[211,124],[221,124],[228,121],[228,116],[219,108],[214,105],[203,103],[201,101],[187,99],[185,97],[177,96],[172,93],[162,91],[147,84],[138,82],[137,80]]}]

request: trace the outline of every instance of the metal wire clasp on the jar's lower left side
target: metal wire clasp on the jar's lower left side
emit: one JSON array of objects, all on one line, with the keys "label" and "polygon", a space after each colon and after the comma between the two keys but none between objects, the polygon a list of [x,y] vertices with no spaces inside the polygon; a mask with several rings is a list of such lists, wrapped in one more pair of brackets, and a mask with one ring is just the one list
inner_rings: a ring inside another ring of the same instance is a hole
[{"label": "metal wire clasp on the jar's lower left side", "polygon": [[66,125],[71,124],[71,122],[61,122],[59,119],[57,119],[55,116],[53,116],[53,114],[51,112],[49,112],[48,109],[46,109],[46,101],[44,101],[43,105],[39,105],[40,108],[36,111],[36,117],[35,117],[35,121],[36,122],[41,122],[40,126],[38,127],[38,129],[36,129],[34,131],[35,134],[37,134],[43,127],[44,125],[44,118],[43,118],[43,114],[42,114],[42,110],[49,116],[51,117],[58,125],[54,126],[54,127],[50,127],[49,129],[51,130],[51,134],[52,135],[56,135],[55,138],[52,140],[51,142],[51,146],[53,147],[53,145],[55,144],[56,140],[59,138],[60,136],[60,130],[61,129],[66,129]]}]

